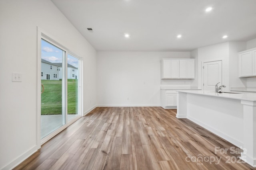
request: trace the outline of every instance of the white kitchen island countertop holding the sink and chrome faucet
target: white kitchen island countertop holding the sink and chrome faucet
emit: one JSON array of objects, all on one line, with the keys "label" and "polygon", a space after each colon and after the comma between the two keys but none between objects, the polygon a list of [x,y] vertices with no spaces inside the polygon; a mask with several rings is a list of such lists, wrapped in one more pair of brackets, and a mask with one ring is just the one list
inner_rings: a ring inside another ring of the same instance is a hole
[{"label": "white kitchen island countertop holding the sink and chrome faucet", "polygon": [[206,96],[215,96],[221,98],[230,98],[230,99],[238,99],[238,100],[247,100],[256,102],[256,94],[254,93],[216,93],[212,91],[204,91],[204,90],[177,90],[177,92],[191,93],[191,94],[200,94]]}]

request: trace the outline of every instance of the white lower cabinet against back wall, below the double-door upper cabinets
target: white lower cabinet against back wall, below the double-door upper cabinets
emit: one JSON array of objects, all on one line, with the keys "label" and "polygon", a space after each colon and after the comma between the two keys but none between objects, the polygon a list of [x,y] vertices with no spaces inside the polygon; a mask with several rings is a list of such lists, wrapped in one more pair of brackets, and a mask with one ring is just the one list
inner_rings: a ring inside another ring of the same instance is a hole
[{"label": "white lower cabinet against back wall, below the double-door upper cabinets", "polygon": [[161,106],[163,108],[177,107],[177,92],[176,92],[176,90],[161,89]]}]

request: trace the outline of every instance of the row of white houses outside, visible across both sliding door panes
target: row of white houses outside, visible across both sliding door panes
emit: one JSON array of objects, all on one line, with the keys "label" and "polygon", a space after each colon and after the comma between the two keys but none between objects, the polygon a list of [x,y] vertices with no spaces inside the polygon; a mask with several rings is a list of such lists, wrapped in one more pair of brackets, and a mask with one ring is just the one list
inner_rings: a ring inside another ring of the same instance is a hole
[{"label": "row of white houses outside, visible across both sliding door panes", "polygon": [[[68,79],[78,78],[78,68],[68,64]],[[41,80],[60,80],[62,79],[62,63],[51,63],[41,59]]]}]

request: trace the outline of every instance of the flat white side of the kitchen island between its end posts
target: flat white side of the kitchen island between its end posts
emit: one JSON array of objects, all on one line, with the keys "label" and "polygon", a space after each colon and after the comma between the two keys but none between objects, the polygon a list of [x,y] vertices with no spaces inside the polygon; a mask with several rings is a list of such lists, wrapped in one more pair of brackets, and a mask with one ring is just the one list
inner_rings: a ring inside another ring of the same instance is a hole
[{"label": "flat white side of the kitchen island between its end posts", "polygon": [[243,105],[240,100],[190,94],[187,118],[237,147],[243,147]]}]

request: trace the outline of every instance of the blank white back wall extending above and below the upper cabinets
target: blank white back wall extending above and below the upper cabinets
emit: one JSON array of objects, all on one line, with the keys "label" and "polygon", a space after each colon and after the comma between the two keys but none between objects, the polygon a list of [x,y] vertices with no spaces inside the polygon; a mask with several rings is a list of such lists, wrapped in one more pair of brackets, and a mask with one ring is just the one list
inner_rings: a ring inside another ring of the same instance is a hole
[{"label": "blank white back wall extending above and below the upper cabinets", "polygon": [[190,58],[190,52],[97,52],[99,106],[160,106],[160,84],[190,85],[161,82],[162,58]]}]

